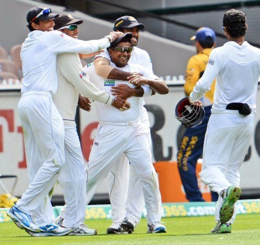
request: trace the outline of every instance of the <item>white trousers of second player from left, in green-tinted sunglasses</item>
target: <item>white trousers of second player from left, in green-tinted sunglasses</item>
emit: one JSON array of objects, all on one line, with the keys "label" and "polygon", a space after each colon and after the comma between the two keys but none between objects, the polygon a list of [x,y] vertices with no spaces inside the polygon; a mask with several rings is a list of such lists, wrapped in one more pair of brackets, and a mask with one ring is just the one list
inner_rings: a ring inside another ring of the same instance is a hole
[{"label": "white trousers of second player from left, in green-tinted sunglasses", "polygon": [[86,215],[86,170],[76,126],[65,127],[65,164],[58,181],[66,208],[62,210],[65,227],[84,224]]}]

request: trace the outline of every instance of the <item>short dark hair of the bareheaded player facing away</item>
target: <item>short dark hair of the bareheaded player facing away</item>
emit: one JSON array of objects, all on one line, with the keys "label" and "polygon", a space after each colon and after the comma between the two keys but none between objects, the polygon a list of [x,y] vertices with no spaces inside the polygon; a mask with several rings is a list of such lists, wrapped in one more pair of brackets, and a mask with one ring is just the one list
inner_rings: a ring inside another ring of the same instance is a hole
[{"label": "short dark hair of the bareheaded player facing away", "polygon": [[223,26],[231,37],[245,36],[246,14],[236,9],[226,11],[223,16]]}]

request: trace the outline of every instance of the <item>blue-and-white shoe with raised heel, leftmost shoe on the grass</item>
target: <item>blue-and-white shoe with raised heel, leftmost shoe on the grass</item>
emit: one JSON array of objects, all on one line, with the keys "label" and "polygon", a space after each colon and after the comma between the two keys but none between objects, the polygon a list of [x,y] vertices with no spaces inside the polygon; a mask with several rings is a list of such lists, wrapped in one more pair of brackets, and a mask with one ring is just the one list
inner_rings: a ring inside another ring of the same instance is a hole
[{"label": "blue-and-white shoe with raised heel, leftmost shoe on the grass", "polygon": [[32,232],[40,232],[41,229],[37,225],[34,224],[31,220],[31,216],[28,213],[25,213],[19,210],[17,207],[13,206],[10,208],[6,214],[13,220],[13,222],[20,229],[27,229]]}]

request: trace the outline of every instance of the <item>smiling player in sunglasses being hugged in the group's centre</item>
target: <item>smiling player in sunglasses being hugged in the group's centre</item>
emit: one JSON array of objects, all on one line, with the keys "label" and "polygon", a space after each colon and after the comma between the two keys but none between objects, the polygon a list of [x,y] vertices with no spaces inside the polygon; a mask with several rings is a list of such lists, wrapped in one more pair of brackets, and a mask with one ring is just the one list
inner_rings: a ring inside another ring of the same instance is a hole
[{"label": "smiling player in sunglasses being hugged in the group's centre", "polygon": [[[135,64],[127,64],[132,51],[131,38],[132,34],[124,34],[124,38],[120,37],[111,44],[109,48],[111,62],[113,62],[111,65],[121,71],[130,73],[137,71],[148,78],[134,76],[133,83],[136,83],[137,80],[146,80],[147,83],[150,81],[151,83],[160,82],[164,84],[164,81],[159,80],[158,77],[146,68]],[[110,91],[111,86],[119,84],[131,86],[128,81],[108,81],[96,75],[93,65],[86,68],[86,73],[97,87],[107,91]],[[154,81],[155,79],[158,79],[158,81]],[[165,93],[168,91],[167,86],[165,86]],[[108,108],[106,105],[97,104],[100,124],[86,169],[87,202],[91,200],[96,188],[102,183],[110,170],[115,165],[120,166],[122,164],[122,162],[118,162],[116,159],[124,153],[133,165],[142,183],[147,208],[148,233],[166,232],[165,226],[160,223],[161,198],[157,175],[151,161],[150,145],[147,140],[149,129],[139,119],[140,98],[131,97],[128,101],[131,103],[131,108],[121,114],[118,114],[116,110]]]}]

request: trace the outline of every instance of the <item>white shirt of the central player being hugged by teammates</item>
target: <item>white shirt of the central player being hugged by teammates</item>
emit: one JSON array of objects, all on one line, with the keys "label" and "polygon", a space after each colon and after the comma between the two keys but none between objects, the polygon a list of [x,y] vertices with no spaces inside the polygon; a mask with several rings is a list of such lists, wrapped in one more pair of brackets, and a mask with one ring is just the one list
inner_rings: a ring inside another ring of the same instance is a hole
[{"label": "white shirt of the central player being hugged by teammates", "polygon": [[[147,78],[158,79],[158,77],[155,76],[151,71],[149,71],[148,69],[146,69],[141,65],[128,64],[125,67],[120,68],[120,67],[116,67],[115,64],[111,62],[111,66],[121,71],[125,71],[125,72],[137,71],[143,74],[143,76]],[[131,83],[128,83],[128,81],[105,79],[104,77],[96,75],[94,65],[90,65],[89,67],[85,66],[84,70],[86,71],[89,80],[101,90],[110,92],[111,86],[116,86],[118,84],[126,84],[131,88],[134,87]],[[134,96],[128,98],[127,100],[129,103],[131,103],[131,108],[124,112],[120,112],[117,108],[114,108],[107,104],[102,104],[100,102],[97,102],[96,112],[99,121],[126,123],[129,121],[135,121],[139,119],[140,110],[141,110],[140,99],[141,99],[140,97],[134,97]]]}]

